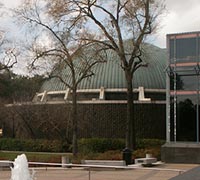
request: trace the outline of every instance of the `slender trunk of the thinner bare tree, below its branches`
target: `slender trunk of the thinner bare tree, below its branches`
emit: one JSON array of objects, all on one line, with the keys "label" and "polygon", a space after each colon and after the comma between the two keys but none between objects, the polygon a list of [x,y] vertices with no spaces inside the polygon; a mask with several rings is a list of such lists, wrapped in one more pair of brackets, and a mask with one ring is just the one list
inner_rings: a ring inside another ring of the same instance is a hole
[{"label": "slender trunk of the thinner bare tree, below its branches", "polygon": [[76,93],[76,88],[73,89],[72,92],[72,124],[73,124],[73,139],[72,139],[72,153],[73,156],[77,156],[78,153],[78,140],[77,140],[77,133],[78,133],[78,128],[77,128],[77,93]]}]

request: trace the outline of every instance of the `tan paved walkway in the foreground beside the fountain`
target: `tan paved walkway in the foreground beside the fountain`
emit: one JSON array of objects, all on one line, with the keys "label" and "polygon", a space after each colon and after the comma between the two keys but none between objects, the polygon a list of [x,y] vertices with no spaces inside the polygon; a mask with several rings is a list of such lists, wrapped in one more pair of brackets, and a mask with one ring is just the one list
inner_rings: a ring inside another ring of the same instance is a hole
[{"label": "tan paved walkway in the foreground beside the fountain", "polygon": [[[83,168],[35,168],[36,180],[169,180],[198,165],[162,164],[153,168],[106,170]],[[176,171],[177,169],[181,170]],[[10,170],[0,170],[0,180],[10,180]]]}]

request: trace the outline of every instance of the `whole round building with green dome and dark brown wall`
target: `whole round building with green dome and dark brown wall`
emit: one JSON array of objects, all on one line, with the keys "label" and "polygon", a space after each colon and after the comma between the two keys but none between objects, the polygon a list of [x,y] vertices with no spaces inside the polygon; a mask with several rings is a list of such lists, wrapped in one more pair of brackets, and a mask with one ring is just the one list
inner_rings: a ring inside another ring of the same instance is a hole
[{"label": "whole round building with green dome and dark brown wall", "polygon": [[[125,42],[127,54],[130,41]],[[134,120],[137,138],[166,138],[167,51],[142,45],[144,67],[134,73]],[[92,58],[95,58],[92,57]],[[96,65],[94,75],[77,90],[78,138],[125,138],[126,79],[117,54],[106,50],[106,62]],[[59,69],[66,82],[67,68]],[[72,139],[71,91],[58,79],[48,79],[33,102],[7,106],[4,137]]]}]

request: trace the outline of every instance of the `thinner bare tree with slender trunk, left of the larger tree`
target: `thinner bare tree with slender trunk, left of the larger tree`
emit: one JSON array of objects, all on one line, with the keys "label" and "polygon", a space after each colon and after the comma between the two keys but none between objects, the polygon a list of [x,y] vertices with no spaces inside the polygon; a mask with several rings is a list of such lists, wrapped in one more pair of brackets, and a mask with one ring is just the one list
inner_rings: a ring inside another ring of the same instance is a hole
[{"label": "thinner bare tree with slender trunk, left of the larger tree", "polygon": [[[77,155],[77,88],[83,79],[94,74],[92,68],[95,65],[104,62],[102,58],[104,48],[81,38],[81,29],[85,21],[80,17],[80,13],[74,11],[71,2],[67,4],[66,1],[65,18],[55,16],[52,6],[54,2],[38,3],[39,1],[27,0],[15,13],[20,20],[31,27],[32,33],[29,36],[33,40],[29,47],[29,56],[32,56],[31,67],[40,69],[53,67],[52,73],[49,74],[50,78],[59,79],[72,91],[73,154]],[[62,73],[63,69],[67,69],[67,74]],[[66,76],[70,77],[69,81]]]}]

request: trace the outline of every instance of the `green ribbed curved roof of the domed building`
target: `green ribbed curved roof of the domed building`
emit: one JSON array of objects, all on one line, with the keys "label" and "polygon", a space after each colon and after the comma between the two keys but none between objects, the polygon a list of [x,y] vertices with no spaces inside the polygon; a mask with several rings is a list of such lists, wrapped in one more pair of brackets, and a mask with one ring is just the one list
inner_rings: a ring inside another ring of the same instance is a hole
[{"label": "green ribbed curved roof of the domed building", "polygon": [[[126,48],[130,48],[130,46]],[[134,73],[133,87],[143,86],[147,89],[165,89],[166,49],[144,44],[143,51],[142,59],[148,66],[140,67]],[[126,88],[125,74],[120,66],[119,57],[111,50],[107,50],[107,62],[96,65],[93,72],[94,76],[84,79],[79,84],[78,89]],[[67,81],[71,80],[67,69],[63,70],[62,74]],[[66,88],[58,79],[53,78],[43,84],[40,92],[44,90],[60,91],[66,90]]]}]

